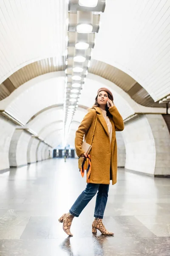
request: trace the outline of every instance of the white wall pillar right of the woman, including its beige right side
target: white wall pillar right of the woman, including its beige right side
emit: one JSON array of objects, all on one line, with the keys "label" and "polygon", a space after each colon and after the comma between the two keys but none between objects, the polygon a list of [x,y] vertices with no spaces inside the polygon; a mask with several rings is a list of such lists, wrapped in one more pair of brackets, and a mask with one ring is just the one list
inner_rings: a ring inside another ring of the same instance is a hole
[{"label": "white wall pillar right of the woman, including its beige right side", "polygon": [[125,124],[122,132],[125,168],[152,175],[170,175],[170,134],[160,114],[147,114]]}]

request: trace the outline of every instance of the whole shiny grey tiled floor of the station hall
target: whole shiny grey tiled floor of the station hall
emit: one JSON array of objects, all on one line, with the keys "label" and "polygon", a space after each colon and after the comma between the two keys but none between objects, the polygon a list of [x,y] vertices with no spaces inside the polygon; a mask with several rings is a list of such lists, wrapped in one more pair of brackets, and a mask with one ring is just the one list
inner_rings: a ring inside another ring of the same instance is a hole
[{"label": "whole shiny grey tiled floor of the station hall", "polygon": [[0,256],[170,256],[170,179],[118,170],[104,224],[91,233],[95,198],[71,227],[58,218],[85,188],[77,160],[46,160],[0,171]]}]

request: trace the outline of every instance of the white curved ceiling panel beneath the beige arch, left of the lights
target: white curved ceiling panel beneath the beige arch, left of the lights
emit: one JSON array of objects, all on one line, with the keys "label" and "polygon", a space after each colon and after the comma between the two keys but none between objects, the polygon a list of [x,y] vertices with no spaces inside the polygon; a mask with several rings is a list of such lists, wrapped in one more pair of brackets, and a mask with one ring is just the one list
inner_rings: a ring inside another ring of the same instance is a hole
[{"label": "white curved ceiling panel beneath the beige arch, left of the lights", "polygon": [[[51,73],[47,74],[47,76],[49,75],[52,76]],[[51,105],[63,104],[64,77],[42,80],[45,76],[32,79],[18,87],[8,98],[0,102],[1,109],[4,107],[6,112],[25,125],[32,116],[42,109]]]}]

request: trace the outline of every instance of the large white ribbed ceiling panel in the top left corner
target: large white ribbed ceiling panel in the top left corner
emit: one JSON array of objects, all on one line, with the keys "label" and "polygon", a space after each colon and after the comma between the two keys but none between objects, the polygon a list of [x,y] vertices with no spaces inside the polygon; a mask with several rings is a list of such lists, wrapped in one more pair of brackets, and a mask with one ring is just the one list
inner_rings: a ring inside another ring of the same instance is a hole
[{"label": "large white ribbed ceiling panel in the top left corner", "polygon": [[0,1],[0,84],[21,67],[66,49],[68,2]]}]

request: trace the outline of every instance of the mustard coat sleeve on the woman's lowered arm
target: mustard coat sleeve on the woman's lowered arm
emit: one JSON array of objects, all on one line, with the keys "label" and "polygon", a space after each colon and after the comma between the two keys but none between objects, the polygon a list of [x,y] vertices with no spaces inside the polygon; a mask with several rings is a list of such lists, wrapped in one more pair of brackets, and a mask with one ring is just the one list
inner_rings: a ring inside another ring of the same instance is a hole
[{"label": "mustard coat sleeve on the woman's lowered arm", "polygon": [[82,120],[81,124],[79,125],[78,130],[76,131],[75,137],[75,148],[77,156],[81,156],[85,151],[82,150],[82,141],[84,135],[87,133],[88,129],[90,128],[94,118],[96,116],[96,111],[91,109],[85,115],[84,119]]}]

